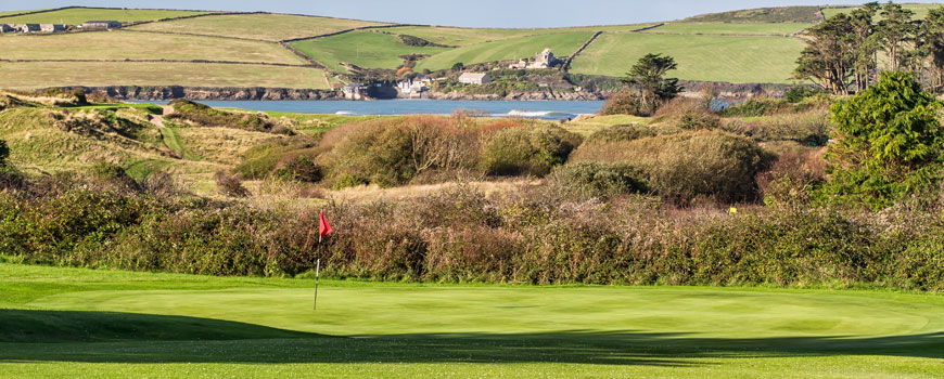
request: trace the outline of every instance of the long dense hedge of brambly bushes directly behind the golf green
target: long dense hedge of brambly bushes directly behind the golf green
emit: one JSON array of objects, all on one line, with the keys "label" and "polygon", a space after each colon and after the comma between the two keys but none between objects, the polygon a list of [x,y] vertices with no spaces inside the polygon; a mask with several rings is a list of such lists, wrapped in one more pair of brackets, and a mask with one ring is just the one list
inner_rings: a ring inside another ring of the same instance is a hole
[{"label": "long dense hedge of brambly bushes directly behind the golf green", "polygon": [[327,210],[335,233],[317,245],[317,210],[56,185],[65,186],[0,192],[4,253],[211,275],[295,275],[321,259],[322,274],[335,278],[944,290],[936,211],[778,208],[731,217],[666,212],[637,198],[560,201],[540,191],[488,198],[459,186],[413,200],[334,205]]}]

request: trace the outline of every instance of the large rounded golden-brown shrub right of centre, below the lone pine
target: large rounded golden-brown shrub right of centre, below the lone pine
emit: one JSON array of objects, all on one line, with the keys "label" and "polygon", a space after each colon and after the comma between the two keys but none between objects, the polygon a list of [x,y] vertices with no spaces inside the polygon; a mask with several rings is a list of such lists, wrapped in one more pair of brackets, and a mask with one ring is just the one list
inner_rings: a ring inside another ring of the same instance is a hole
[{"label": "large rounded golden-brown shrub right of centre, below the lone pine", "polygon": [[753,200],[757,197],[755,177],[771,160],[750,139],[720,131],[587,145],[572,157],[574,162],[638,167],[654,194],[677,204],[705,196],[724,202]]}]

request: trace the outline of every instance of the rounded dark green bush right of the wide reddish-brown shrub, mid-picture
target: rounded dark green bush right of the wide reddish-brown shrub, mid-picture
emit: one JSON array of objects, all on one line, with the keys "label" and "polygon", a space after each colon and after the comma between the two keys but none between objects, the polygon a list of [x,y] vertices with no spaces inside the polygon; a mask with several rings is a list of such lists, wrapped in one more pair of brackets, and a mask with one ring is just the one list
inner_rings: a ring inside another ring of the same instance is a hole
[{"label": "rounded dark green bush right of the wide reddish-brown shrub, mid-picture", "polygon": [[581,142],[579,135],[557,126],[506,129],[485,144],[482,167],[496,175],[544,177],[563,165]]}]

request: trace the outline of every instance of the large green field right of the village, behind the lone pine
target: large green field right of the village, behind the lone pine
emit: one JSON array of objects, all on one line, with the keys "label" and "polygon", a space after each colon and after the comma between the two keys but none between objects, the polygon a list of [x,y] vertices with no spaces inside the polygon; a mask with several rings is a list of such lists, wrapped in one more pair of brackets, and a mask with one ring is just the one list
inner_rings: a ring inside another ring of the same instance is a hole
[{"label": "large green field right of the village, behind the lone pine", "polygon": [[[573,63],[572,71],[623,76],[639,57],[675,57],[680,79],[789,83],[803,42],[786,37],[604,34]],[[443,55],[443,54],[441,54]]]}]

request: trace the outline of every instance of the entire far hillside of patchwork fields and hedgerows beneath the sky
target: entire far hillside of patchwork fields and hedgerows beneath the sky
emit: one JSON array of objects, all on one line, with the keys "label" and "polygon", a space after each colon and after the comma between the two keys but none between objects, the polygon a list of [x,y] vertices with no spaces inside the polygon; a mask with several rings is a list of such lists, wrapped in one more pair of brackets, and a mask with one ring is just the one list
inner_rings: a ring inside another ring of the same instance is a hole
[{"label": "entire far hillside of patchwork fields and hedgerows beneath the sky", "polygon": [[[907,4],[918,16],[937,4]],[[0,10],[0,23],[116,19],[109,32],[0,37],[7,88],[187,86],[330,89],[346,64],[393,73],[442,70],[533,57],[545,48],[573,57],[576,74],[622,76],[646,53],[679,63],[687,80],[789,83],[799,36],[824,15],[852,6],[788,6],[723,12],[645,25],[564,28],[461,28],[396,25],[308,15],[65,8]],[[591,36],[600,34],[591,41]],[[407,44],[401,36],[423,43]],[[591,43],[588,43],[591,41]],[[425,44],[425,45],[423,45]],[[586,44],[586,45],[585,45]],[[581,50],[581,48],[584,48]]]}]

